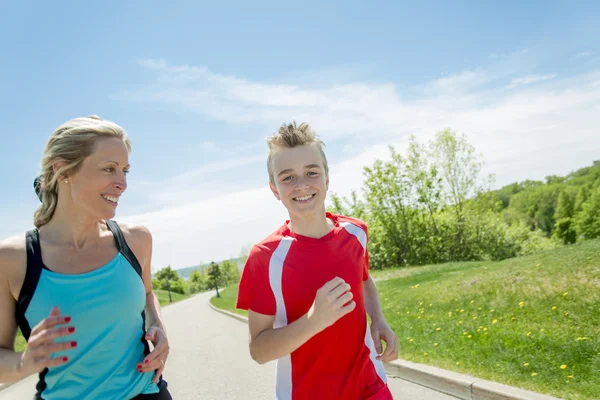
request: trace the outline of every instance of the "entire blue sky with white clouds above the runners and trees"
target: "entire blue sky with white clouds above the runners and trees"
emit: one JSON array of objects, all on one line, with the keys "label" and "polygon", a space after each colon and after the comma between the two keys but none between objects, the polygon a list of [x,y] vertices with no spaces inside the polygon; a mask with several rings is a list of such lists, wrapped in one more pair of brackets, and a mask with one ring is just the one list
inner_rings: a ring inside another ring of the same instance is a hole
[{"label": "entire blue sky with white clouds above the runners and trees", "polygon": [[286,218],[265,136],[310,121],[331,189],[450,127],[496,186],[600,158],[597,2],[31,2],[0,14],[0,238],[31,227],[47,137],[97,114],[133,140],[117,220],[155,268],[239,254]]}]

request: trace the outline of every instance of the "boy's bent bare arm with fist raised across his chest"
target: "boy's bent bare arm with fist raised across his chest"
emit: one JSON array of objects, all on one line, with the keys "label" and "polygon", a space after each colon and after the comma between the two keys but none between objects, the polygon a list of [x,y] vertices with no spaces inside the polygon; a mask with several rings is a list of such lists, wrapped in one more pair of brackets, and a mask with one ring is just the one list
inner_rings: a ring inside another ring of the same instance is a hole
[{"label": "boy's bent bare arm with fist raised across his chest", "polygon": [[310,310],[281,328],[273,328],[275,316],[248,310],[250,355],[259,364],[286,356],[317,333],[333,325],[356,307],[350,285],[334,278],[317,290]]}]

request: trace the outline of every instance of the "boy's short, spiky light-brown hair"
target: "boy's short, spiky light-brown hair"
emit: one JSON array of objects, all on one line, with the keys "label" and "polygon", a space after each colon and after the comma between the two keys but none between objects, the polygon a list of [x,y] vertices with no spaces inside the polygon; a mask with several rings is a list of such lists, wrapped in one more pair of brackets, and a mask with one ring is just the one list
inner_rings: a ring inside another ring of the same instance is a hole
[{"label": "boy's short, spiky light-brown hair", "polygon": [[329,166],[327,165],[327,157],[323,147],[325,143],[319,138],[316,132],[310,127],[308,122],[303,122],[300,125],[296,124],[296,121],[292,121],[288,124],[283,124],[279,130],[272,136],[267,137],[267,145],[269,146],[269,156],[267,157],[267,171],[269,172],[269,181],[272,185],[275,185],[275,179],[273,177],[273,169],[271,168],[271,161],[273,160],[273,154],[277,149],[288,148],[292,149],[296,146],[304,146],[307,144],[314,144],[319,150],[319,154],[323,159],[323,168],[325,168],[325,176],[329,176]]}]

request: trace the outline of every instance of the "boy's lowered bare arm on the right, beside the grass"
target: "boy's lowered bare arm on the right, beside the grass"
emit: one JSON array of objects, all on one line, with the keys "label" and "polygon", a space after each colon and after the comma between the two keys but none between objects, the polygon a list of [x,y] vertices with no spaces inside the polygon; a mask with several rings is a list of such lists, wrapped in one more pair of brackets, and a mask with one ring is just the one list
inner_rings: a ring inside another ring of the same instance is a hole
[{"label": "boy's lowered bare arm on the right, beside the grass", "polygon": [[[377,286],[371,275],[366,281],[363,281],[363,291],[365,296],[365,310],[371,317],[371,336],[375,342],[375,350],[377,350],[377,359],[383,362],[390,362],[398,358],[398,336],[392,331],[388,325],[381,309],[379,302],[379,294]],[[386,344],[385,352],[383,351],[381,341]],[[382,354],[383,353],[383,354]]]}]

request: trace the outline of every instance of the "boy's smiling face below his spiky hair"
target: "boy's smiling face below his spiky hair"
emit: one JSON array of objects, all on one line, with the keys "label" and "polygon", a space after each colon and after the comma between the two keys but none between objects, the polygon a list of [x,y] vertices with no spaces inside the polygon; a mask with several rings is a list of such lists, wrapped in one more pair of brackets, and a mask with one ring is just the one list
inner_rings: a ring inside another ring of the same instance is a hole
[{"label": "boy's smiling face below his spiky hair", "polygon": [[275,185],[269,186],[288,209],[290,217],[325,215],[329,178],[325,176],[323,160],[315,145],[278,149],[273,154],[271,167]]}]

